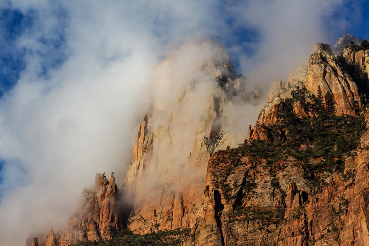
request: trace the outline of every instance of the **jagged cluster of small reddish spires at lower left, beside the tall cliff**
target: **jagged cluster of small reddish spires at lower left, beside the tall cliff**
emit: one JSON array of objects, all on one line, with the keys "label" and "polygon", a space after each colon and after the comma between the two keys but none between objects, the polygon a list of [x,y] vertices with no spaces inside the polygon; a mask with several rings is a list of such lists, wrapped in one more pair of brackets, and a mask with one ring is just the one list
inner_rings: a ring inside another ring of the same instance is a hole
[{"label": "jagged cluster of small reddish spires at lower left, beside the tall cliff", "polygon": [[78,241],[111,239],[121,226],[117,202],[114,174],[111,173],[108,181],[105,173],[96,173],[94,187],[82,192],[80,210],[69,218],[65,231],[59,230],[55,234],[51,228],[44,245],[64,246]]}]

